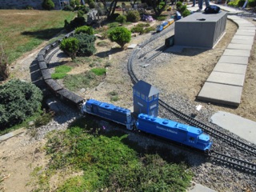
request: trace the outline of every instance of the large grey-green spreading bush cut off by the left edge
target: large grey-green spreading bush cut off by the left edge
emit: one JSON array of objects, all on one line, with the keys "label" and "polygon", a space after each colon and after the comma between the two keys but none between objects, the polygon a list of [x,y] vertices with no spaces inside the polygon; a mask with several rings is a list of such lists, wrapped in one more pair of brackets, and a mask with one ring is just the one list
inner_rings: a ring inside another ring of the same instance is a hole
[{"label": "large grey-green spreading bush cut off by the left edge", "polygon": [[30,82],[10,80],[0,86],[0,127],[4,130],[23,122],[40,110],[42,91]]}]

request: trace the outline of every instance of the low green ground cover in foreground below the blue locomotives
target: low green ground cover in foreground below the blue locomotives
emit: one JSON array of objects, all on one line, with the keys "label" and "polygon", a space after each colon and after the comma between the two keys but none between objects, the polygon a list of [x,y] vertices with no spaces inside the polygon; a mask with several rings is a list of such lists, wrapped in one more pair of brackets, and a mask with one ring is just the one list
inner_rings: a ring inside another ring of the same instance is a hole
[{"label": "low green ground cover in foreground below the blue locomotives", "polygon": [[192,174],[182,156],[157,146],[144,150],[128,136],[122,130],[104,130],[91,117],[49,134],[45,149],[50,163],[34,170],[37,190],[51,190],[51,177],[62,171],[65,174],[67,167],[82,174],[63,179],[56,191],[186,190]]}]

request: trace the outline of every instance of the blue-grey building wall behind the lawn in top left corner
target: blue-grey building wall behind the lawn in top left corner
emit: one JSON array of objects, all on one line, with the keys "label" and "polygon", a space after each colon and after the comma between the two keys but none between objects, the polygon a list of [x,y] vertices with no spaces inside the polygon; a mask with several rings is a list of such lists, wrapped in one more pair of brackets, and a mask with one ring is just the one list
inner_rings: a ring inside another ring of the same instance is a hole
[{"label": "blue-grey building wall behind the lawn in top left corner", "polygon": [[[59,0],[52,0],[55,10],[60,10]],[[0,9],[24,9],[32,6],[35,10],[42,10],[42,0],[0,0]]]}]

